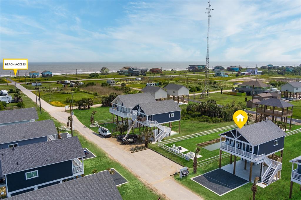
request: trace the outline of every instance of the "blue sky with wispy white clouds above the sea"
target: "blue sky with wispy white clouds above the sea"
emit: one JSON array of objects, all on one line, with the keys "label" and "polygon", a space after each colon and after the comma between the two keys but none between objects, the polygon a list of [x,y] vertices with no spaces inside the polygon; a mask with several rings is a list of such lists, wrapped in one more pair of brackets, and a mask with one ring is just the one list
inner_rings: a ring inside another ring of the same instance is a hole
[{"label": "blue sky with wispy white clouds above the sea", "polygon": [[[1,59],[204,61],[207,1],[1,1]],[[300,61],[301,1],[211,1],[211,61]]]}]

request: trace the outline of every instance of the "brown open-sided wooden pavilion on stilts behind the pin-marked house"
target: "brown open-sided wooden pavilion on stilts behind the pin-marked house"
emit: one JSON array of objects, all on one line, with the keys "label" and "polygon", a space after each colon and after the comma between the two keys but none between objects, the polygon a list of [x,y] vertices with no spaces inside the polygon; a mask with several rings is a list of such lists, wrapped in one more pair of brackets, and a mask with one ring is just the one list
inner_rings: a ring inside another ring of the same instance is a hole
[{"label": "brown open-sided wooden pavilion on stilts behind the pin-marked house", "polygon": [[287,117],[290,116],[290,129],[292,126],[293,106],[281,99],[269,98],[264,101],[256,103],[256,122],[267,120],[269,116],[272,117],[272,122],[278,121],[284,123],[284,131],[287,129]]}]

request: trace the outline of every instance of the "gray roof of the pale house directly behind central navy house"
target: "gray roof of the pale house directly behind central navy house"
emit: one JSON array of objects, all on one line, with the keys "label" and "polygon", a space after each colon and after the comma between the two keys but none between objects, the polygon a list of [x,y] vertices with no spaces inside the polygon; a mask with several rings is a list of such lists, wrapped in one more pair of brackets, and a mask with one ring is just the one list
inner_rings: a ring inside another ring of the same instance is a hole
[{"label": "gray roof of the pale house directly behind central navy house", "polygon": [[148,92],[128,94],[128,95],[118,95],[116,98],[119,98],[123,103],[123,106],[125,106],[126,108],[133,108],[138,103],[156,102],[156,99]]}]

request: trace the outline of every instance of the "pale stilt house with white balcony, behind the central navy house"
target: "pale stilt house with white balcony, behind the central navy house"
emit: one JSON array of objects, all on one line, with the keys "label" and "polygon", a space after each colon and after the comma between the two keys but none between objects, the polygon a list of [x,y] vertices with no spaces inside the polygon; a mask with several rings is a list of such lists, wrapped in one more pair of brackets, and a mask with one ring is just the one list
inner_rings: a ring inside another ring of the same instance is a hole
[{"label": "pale stilt house with white balcony, behind the central navy house", "polygon": [[[150,103],[156,102],[156,99],[151,95],[151,93],[137,93],[137,94],[128,94],[128,95],[118,95],[112,102],[109,112],[112,113],[113,123],[114,115],[116,115],[117,123],[118,117],[121,117],[122,122],[123,118],[132,117],[132,108],[138,103]],[[134,130],[134,129],[133,129]]]}]

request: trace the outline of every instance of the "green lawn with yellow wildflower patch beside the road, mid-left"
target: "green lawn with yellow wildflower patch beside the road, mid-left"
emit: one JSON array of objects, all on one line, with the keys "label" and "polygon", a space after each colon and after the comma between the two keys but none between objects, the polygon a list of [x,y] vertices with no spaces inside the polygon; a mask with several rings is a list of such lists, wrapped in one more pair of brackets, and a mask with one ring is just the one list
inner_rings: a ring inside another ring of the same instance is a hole
[{"label": "green lawn with yellow wildflower patch beside the road, mid-left", "polygon": [[[34,94],[36,94],[35,91],[32,91]],[[45,100],[46,102],[50,103],[51,105],[54,106],[58,106],[58,107],[64,107],[65,105],[69,105],[68,103],[66,103],[66,98],[72,98],[71,94],[62,94],[61,92],[50,92],[50,96],[49,96],[49,92],[48,91],[40,91],[40,97]],[[50,101],[51,98],[51,101]],[[92,98],[94,102],[94,104],[99,104],[101,103],[101,98],[96,98],[94,95],[92,94],[88,94],[85,92],[81,92],[81,91],[76,91],[73,93],[73,101],[76,100],[80,100],[82,98]]]}]

